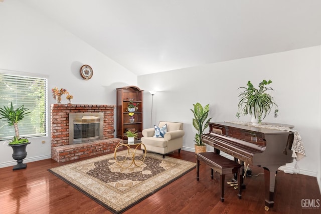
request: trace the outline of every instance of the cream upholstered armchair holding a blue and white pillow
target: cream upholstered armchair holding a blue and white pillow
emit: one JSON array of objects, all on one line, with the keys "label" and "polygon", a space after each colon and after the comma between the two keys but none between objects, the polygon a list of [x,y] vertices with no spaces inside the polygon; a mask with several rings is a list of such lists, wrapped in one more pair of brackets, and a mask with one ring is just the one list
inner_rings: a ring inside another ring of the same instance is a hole
[{"label": "cream upholstered armchair holding a blue and white pillow", "polygon": [[167,132],[164,138],[154,137],[155,129],[148,128],[142,130],[143,137],[140,139],[147,151],[163,154],[163,158],[165,158],[165,154],[176,149],[179,150],[179,153],[181,152],[181,148],[183,148],[183,136],[185,134],[183,123],[161,121],[158,127],[161,128],[165,124],[167,124]]}]

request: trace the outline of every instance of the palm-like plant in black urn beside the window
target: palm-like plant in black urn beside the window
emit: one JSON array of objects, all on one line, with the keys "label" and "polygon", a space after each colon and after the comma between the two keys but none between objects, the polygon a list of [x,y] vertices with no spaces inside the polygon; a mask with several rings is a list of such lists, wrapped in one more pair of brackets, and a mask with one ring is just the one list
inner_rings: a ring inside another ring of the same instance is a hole
[{"label": "palm-like plant in black urn beside the window", "polygon": [[6,119],[8,124],[10,126],[13,125],[15,128],[16,135],[8,144],[14,150],[12,157],[17,160],[17,165],[14,166],[13,170],[25,169],[27,167],[27,164],[23,163],[23,159],[27,156],[26,147],[30,142],[27,138],[20,137],[18,122],[24,119],[24,117],[29,113],[28,109],[24,108],[24,105],[14,109],[12,102],[10,107],[0,107],[0,119]]}]

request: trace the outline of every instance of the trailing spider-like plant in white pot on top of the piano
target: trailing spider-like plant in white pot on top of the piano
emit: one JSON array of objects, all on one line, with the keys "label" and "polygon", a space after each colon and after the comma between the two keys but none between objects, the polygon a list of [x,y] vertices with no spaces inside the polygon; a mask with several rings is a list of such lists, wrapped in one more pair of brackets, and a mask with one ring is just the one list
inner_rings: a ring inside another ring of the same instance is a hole
[{"label": "trailing spider-like plant in white pot on top of the piano", "polygon": [[241,114],[247,115],[250,114],[252,117],[251,122],[253,124],[259,124],[262,120],[270,113],[273,105],[274,117],[277,117],[278,106],[274,102],[273,97],[266,93],[266,91],[273,90],[271,87],[267,88],[265,85],[272,83],[271,80],[266,81],[262,80],[258,85],[258,89],[254,88],[251,81],[247,82],[246,87],[239,87],[245,89],[239,94],[239,112],[236,113],[236,117],[239,118]]}]

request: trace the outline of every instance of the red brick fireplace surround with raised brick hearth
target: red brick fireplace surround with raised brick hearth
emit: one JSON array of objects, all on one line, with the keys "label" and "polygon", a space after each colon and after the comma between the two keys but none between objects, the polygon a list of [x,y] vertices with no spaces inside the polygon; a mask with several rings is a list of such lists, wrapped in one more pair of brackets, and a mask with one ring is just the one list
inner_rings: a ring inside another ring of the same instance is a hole
[{"label": "red brick fireplace surround with raised brick hearth", "polygon": [[[51,158],[57,162],[80,159],[113,151],[121,140],[114,138],[115,105],[51,105]],[[103,139],[69,144],[69,113],[103,112]]]}]

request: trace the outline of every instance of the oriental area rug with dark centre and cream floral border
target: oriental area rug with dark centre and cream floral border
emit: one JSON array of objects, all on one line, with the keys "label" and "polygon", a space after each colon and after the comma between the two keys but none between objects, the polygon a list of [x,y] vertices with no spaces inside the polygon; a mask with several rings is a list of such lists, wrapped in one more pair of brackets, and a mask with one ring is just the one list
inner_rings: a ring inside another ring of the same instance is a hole
[{"label": "oriental area rug with dark centre and cream floral border", "polygon": [[[127,150],[117,151],[117,160],[126,154]],[[148,152],[143,163],[142,157],[142,151],[136,150],[135,163],[141,165],[128,168],[121,167],[112,153],[49,171],[111,212],[121,213],[196,167],[194,162],[161,154]],[[131,160],[126,161],[130,165]]]}]

